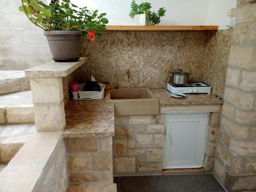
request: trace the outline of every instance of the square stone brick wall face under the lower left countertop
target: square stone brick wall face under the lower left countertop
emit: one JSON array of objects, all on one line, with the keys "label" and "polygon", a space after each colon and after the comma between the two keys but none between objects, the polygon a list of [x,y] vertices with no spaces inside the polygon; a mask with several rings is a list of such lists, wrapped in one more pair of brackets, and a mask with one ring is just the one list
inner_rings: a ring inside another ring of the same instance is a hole
[{"label": "square stone brick wall face under the lower left countertop", "polygon": [[71,184],[113,183],[112,137],[67,138]]}]

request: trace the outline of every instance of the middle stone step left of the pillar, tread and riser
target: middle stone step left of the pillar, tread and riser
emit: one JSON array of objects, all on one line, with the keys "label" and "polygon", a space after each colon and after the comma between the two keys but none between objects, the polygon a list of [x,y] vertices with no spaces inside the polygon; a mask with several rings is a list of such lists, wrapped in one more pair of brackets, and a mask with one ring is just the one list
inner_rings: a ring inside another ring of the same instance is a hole
[{"label": "middle stone step left of the pillar, tread and riser", "polygon": [[0,124],[34,122],[31,91],[0,95]]}]

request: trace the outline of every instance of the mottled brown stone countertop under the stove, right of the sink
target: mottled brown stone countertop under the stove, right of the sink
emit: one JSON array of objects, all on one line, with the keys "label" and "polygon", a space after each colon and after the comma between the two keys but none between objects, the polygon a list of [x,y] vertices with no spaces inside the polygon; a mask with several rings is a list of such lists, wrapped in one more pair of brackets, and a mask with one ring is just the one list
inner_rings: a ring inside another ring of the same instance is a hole
[{"label": "mottled brown stone countertop under the stove, right of the sink", "polygon": [[197,104],[222,104],[222,99],[217,99],[214,94],[186,94],[185,98],[174,98],[166,89],[151,89],[159,99],[160,105],[197,105]]}]

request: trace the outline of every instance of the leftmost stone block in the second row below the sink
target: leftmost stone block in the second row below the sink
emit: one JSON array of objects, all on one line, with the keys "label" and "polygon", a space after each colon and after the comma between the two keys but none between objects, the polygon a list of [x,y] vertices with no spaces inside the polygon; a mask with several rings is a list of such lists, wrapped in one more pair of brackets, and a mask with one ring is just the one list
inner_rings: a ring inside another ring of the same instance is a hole
[{"label": "leftmost stone block in the second row below the sink", "polygon": [[115,139],[133,139],[135,130],[133,126],[115,126]]}]

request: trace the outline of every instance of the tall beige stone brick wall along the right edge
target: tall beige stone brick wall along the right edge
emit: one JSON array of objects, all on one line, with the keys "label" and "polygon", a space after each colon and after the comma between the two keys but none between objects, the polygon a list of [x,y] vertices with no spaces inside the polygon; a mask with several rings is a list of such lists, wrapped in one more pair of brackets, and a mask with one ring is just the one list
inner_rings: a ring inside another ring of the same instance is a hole
[{"label": "tall beige stone brick wall along the right edge", "polygon": [[229,191],[256,190],[256,2],[238,0],[214,173]]}]

